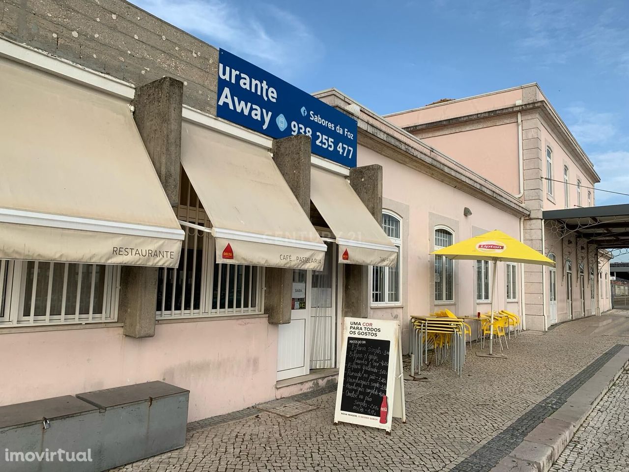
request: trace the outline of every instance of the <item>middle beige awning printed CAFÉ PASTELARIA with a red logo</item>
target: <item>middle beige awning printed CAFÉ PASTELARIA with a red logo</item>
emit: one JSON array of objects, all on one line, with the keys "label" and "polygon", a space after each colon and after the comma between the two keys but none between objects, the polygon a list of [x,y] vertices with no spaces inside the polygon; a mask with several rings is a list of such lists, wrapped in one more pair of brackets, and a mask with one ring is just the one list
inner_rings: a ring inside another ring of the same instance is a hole
[{"label": "middle beige awning printed CAF\u00c9 PASTELARIA with a red logo", "polygon": [[325,244],[268,149],[187,121],[181,147],[217,262],[323,269]]}]

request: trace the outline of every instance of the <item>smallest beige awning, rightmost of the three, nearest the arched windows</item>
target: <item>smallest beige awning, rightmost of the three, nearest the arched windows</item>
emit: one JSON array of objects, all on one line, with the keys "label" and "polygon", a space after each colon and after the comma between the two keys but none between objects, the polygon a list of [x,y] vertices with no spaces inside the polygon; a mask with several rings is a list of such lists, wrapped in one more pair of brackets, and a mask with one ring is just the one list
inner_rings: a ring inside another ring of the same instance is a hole
[{"label": "smallest beige awning, rightmost of the three, nearest the arched windows", "polygon": [[338,262],[395,266],[398,248],[343,176],[313,167],[310,199],[335,235]]}]

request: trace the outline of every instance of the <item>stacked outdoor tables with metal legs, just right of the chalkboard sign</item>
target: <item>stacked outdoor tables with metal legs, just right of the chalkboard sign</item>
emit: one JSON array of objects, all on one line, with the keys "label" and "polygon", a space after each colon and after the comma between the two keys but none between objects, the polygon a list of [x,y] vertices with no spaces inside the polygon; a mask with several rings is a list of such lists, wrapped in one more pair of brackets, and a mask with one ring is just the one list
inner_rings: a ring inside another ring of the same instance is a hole
[{"label": "stacked outdoor tables with metal legs, just right of the chalkboard sign", "polygon": [[[452,368],[459,374],[463,373],[465,361],[465,329],[459,318],[411,315],[410,329],[413,334],[411,342],[411,375],[415,375],[415,356],[419,356],[418,373],[421,372],[423,357],[428,359],[428,333],[446,334],[451,336]],[[436,347],[435,354],[437,353]]]}]

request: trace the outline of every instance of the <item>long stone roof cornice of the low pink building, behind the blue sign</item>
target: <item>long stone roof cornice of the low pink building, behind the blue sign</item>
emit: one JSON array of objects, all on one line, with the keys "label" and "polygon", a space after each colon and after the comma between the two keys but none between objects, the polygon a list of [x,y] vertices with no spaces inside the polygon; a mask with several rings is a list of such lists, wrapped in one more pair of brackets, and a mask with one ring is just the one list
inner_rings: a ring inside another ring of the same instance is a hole
[{"label": "long stone roof cornice of the low pink building, behind the blue sign", "polygon": [[[327,89],[314,95],[357,119],[361,145],[374,149],[389,159],[396,160],[423,174],[440,179],[444,183],[487,201],[512,215],[527,216],[530,214],[526,206],[504,189],[426,145],[411,133],[393,125],[337,89]],[[348,105],[360,107],[358,116],[347,110]]]}]

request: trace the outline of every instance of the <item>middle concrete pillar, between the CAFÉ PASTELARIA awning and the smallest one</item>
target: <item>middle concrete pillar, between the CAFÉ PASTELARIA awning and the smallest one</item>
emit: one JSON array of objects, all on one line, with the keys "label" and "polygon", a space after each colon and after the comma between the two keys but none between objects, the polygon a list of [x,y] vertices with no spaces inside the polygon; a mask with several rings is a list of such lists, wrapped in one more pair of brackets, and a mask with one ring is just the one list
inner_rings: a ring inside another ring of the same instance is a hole
[{"label": "middle concrete pillar, between the CAF\u00c9 PASTELARIA awning and the smallest one", "polygon": [[[306,135],[273,140],[273,160],[284,180],[310,217],[310,138]],[[265,270],[264,308],[269,323],[291,322],[292,271],[281,267]]]}]

